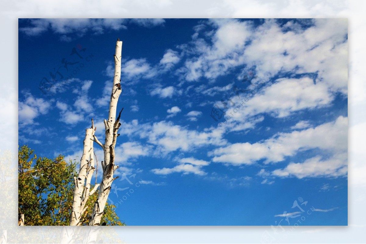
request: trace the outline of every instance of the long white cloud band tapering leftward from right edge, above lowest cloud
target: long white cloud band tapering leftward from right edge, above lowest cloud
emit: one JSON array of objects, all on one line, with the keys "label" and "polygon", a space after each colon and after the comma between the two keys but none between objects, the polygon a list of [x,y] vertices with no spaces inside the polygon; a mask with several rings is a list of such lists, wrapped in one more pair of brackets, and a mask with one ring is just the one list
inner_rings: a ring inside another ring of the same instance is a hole
[{"label": "long white cloud band tapering leftward from right edge, above lowest cloud", "polygon": [[[214,162],[234,165],[253,164],[261,159],[265,159],[265,163],[276,163],[283,161],[285,157],[294,156],[299,150],[313,148],[328,150],[341,156],[340,153],[347,152],[347,123],[347,118],[340,116],[334,122],[325,123],[315,128],[279,133],[265,141],[253,144],[249,142],[235,143],[225,148],[215,149],[209,155],[214,156]],[[340,161],[342,160],[344,158],[340,159]],[[318,163],[320,162],[318,161]],[[344,163],[347,164],[347,160],[343,162],[343,165]],[[313,164],[316,164],[316,161],[313,161]],[[293,167],[291,166],[291,168]],[[291,173],[283,171],[282,174]],[[298,176],[300,175],[298,174]]]}]

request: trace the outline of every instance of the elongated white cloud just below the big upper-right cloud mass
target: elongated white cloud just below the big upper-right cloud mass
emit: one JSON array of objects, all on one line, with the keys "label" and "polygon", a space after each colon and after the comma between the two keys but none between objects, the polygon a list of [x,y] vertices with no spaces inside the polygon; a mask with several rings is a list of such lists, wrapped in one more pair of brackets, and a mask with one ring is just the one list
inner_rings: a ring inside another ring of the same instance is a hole
[{"label": "elongated white cloud just below the big upper-right cloud mass", "polygon": [[[252,98],[247,96],[249,99],[247,102],[244,95],[240,95],[240,99],[232,98],[235,105],[240,104],[238,112],[232,116],[232,126],[240,125],[258,114],[266,113],[276,118],[283,118],[299,110],[329,106],[333,101],[333,95],[326,84],[321,82],[314,84],[309,77],[278,79],[276,83],[262,88],[258,94],[251,95]],[[231,102],[228,104],[232,105]],[[232,110],[233,108],[229,107],[227,111]]]}]

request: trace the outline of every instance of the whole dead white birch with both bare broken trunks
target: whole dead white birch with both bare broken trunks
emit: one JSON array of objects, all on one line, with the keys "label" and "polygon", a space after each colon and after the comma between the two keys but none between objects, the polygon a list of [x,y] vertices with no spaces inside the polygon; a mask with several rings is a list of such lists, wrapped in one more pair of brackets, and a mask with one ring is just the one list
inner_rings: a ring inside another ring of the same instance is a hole
[{"label": "whole dead white birch with both bare broken trunks", "polygon": [[122,93],[122,88],[120,84],[121,58],[122,41],[118,39],[114,55],[115,74],[113,78],[111,100],[109,102],[108,119],[104,119],[105,143],[102,144],[95,136],[96,128],[94,128],[92,119],[91,128],[86,129],[83,157],[81,158],[79,175],[78,178],[75,178],[74,200],[72,203],[70,225],[80,224],[80,218],[85,211],[85,203],[89,196],[93,194],[99,186],[99,184],[97,184],[92,191],[89,191],[91,176],[94,172],[93,142],[96,142],[102,147],[104,152],[104,161],[101,161],[103,176],[98,190],[98,197],[96,202],[94,203],[93,213],[91,214],[91,220],[89,222],[89,225],[100,225],[100,221],[104,213],[104,207],[107,203],[109,192],[111,191],[112,182],[113,180],[118,178],[113,178],[113,174],[118,168],[118,166],[114,164],[115,146],[117,136],[119,136],[118,129],[121,125],[119,119],[123,110],[122,108],[122,110],[119,112],[118,117],[116,118],[117,102],[120,94]]}]

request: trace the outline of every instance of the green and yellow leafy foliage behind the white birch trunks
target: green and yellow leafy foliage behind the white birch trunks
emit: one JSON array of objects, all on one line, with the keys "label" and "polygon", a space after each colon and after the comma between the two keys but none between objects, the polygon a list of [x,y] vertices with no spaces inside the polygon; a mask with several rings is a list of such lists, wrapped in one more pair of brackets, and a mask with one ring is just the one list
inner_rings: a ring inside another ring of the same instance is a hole
[{"label": "green and yellow leafy foliage behind the white birch trunks", "polygon": [[[67,163],[62,155],[52,160],[33,153],[26,145],[19,149],[19,216],[25,215],[25,225],[69,225],[76,163]],[[82,225],[88,225],[97,195],[98,191],[90,196]],[[116,215],[114,205],[107,203],[104,212],[102,222],[125,225]]]}]

